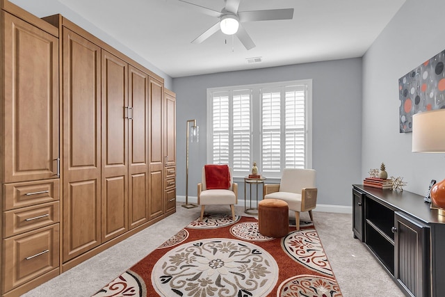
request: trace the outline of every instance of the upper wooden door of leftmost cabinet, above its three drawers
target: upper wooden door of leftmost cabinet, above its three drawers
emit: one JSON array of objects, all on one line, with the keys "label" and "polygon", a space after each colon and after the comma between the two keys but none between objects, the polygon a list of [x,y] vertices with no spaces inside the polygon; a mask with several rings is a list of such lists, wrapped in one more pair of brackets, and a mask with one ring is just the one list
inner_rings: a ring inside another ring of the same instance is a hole
[{"label": "upper wooden door of leftmost cabinet, above its three drawers", "polygon": [[58,39],[13,15],[1,15],[5,182],[57,177]]}]

